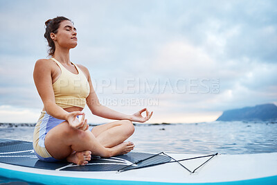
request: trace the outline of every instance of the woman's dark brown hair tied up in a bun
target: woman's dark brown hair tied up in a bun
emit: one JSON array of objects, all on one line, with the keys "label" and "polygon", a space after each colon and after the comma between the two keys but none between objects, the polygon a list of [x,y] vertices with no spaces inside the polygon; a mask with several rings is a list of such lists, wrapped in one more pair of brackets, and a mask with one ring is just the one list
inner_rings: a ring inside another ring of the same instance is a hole
[{"label": "woman's dark brown hair tied up in a bun", "polygon": [[59,17],[55,17],[54,19],[48,19],[45,22],[46,28],[45,28],[44,37],[47,39],[48,46],[50,47],[48,49],[48,55],[53,56],[54,53],[55,53],[55,43],[51,39],[50,34],[51,33],[57,33],[57,28],[60,27],[60,23],[62,21],[71,21],[71,20],[66,18],[66,17],[59,16]]}]

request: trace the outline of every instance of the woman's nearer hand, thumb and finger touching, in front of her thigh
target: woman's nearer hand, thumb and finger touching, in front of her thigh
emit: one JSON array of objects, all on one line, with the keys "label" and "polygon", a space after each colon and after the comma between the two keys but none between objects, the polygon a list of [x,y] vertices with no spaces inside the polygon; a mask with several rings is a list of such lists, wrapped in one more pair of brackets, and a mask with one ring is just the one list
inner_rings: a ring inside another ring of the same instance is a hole
[{"label": "woman's nearer hand, thumb and finger touching, in front of her thigh", "polygon": [[[81,121],[77,118],[77,116],[82,115]],[[87,130],[89,128],[89,125],[87,125],[87,119],[84,119],[84,112],[76,111],[76,112],[69,112],[67,115],[66,121],[69,122],[69,125],[73,129],[79,129],[79,130]]]}]

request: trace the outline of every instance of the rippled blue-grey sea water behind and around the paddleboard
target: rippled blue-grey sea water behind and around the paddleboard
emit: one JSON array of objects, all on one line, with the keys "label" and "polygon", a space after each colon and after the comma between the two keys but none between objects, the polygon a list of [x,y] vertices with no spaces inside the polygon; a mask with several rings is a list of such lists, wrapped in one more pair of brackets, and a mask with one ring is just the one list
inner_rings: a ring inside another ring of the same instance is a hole
[{"label": "rippled blue-grey sea water behind and around the paddleboard", "polygon": [[[34,124],[0,123],[0,138],[33,140]],[[137,123],[134,152],[242,155],[277,152],[277,121]],[[0,183],[15,179],[0,177]]]}]

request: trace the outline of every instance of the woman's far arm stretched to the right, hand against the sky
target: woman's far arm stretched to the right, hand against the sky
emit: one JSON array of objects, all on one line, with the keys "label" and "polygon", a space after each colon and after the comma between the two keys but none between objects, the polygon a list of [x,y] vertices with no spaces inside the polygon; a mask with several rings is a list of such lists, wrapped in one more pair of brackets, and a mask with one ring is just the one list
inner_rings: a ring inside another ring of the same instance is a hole
[{"label": "woman's far arm stretched to the right, hand against the sky", "polygon": [[[136,112],[135,114],[126,115],[120,112],[116,112],[113,109],[109,109],[104,105],[101,105],[96,95],[96,92],[93,89],[89,70],[82,66],[79,66],[79,67],[82,69],[82,71],[84,71],[84,73],[87,76],[87,80],[89,82],[90,92],[89,92],[89,96],[87,96],[87,106],[91,110],[92,114],[96,116],[100,116],[102,118],[109,118],[109,119],[115,119],[115,120],[127,119],[129,121],[138,121],[138,122],[145,122],[151,118],[153,112],[151,112],[150,114],[146,108],[141,109],[139,112]],[[141,113],[144,111],[146,111],[146,117],[141,116]]]}]

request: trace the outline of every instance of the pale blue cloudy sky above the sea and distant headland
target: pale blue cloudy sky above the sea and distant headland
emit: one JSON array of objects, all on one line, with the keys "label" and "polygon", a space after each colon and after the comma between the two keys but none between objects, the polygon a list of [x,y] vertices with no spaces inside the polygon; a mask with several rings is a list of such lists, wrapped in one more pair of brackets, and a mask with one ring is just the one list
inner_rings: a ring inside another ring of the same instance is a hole
[{"label": "pale blue cloudy sky above the sea and distant headland", "polygon": [[277,103],[277,1],[0,0],[0,123],[39,118],[33,68],[48,58],[44,22],[57,16],[77,28],[71,61],[118,112],[147,107],[147,123],[199,123]]}]

